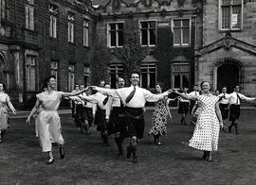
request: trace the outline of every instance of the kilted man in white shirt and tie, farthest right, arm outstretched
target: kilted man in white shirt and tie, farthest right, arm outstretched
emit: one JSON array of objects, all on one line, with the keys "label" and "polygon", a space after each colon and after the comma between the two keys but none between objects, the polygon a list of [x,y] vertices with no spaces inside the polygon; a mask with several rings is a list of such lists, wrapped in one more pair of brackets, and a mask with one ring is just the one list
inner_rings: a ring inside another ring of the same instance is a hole
[{"label": "kilted man in white shirt and tie, farthest right, arm outstretched", "polygon": [[235,126],[235,133],[238,134],[238,125],[235,123],[236,120],[239,119],[240,116],[240,103],[241,99],[246,101],[255,101],[255,98],[250,98],[245,96],[242,93],[239,93],[240,88],[239,86],[235,86],[234,92],[230,93],[229,95],[229,121],[231,121],[231,125],[229,126],[229,132],[231,132],[232,126]]}]

